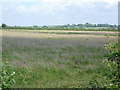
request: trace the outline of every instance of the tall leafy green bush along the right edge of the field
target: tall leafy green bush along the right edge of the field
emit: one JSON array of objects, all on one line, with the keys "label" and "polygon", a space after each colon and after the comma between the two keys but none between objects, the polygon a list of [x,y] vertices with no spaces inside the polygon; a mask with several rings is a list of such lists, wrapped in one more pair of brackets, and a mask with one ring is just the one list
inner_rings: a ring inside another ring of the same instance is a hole
[{"label": "tall leafy green bush along the right edge of the field", "polygon": [[110,54],[105,59],[110,69],[111,84],[108,87],[118,88],[120,84],[119,80],[119,67],[120,67],[120,45],[119,43],[110,43],[105,45]]}]

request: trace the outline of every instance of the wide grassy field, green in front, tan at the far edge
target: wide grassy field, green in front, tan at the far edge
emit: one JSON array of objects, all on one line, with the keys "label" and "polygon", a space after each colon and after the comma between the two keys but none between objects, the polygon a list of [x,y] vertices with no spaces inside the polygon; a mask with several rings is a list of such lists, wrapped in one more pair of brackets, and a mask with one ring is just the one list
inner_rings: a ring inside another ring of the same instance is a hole
[{"label": "wide grassy field, green in front, tan at the far edge", "polygon": [[99,35],[97,32],[44,32],[2,31],[2,60],[16,72],[16,83],[12,88],[91,87],[95,82],[102,87],[110,84],[109,69],[103,62],[108,54],[104,45],[117,42],[114,32],[98,32]]}]

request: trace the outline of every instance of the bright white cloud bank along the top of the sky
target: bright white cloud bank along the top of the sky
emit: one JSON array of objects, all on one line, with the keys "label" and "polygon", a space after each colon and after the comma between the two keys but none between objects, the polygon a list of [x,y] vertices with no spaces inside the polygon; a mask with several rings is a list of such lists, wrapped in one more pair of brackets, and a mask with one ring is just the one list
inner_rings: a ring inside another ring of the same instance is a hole
[{"label": "bright white cloud bank along the top of the sky", "polygon": [[[68,7],[74,6],[80,9],[94,10],[96,2],[105,3],[106,8],[111,8],[117,5],[119,0],[2,0],[2,2],[13,2],[6,9],[13,9],[19,13],[41,13],[55,14],[59,11],[65,11]],[[37,2],[37,4],[27,5],[21,2]],[[17,3],[17,4],[16,4]],[[16,5],[15,5],[16,4]]]}]

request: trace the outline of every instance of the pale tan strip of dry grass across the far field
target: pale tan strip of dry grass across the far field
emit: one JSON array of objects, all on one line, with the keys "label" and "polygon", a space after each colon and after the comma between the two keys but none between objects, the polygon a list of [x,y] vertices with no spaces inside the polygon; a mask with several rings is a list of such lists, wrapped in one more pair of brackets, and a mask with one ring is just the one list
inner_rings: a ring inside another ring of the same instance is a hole
[{"label": "pale tan strip of dry grass across the far field", "polygon": [[[25,38],[76,38],[76,37],[81,37],[81,38],[82,37],[83,38],[109,38],[109,37],[116,38],[115,36],[105,36],[105,35],[85,35],[85,34],[82,34],[82,35],[80,35],[80,34],[64,35],[64,34],[34,33],[34,30],[30,31],[30,32],[31,33],[18,32],[18,31],[2,31],[2,35],[8,36],[8,37],[25,37]],[[38,31],[38,32],[40,32],[40,31]],[[87,32],[87,31],[85,31],[85,32]],[[95,33],[95,32],[92,32],[92,33]],[[103,33],[103,32],[101,32],[101,33]],[[108,32],[105,32],[105,33],[108,33]],[[111,32],[111,33],[113,33],[113,32]]]}]

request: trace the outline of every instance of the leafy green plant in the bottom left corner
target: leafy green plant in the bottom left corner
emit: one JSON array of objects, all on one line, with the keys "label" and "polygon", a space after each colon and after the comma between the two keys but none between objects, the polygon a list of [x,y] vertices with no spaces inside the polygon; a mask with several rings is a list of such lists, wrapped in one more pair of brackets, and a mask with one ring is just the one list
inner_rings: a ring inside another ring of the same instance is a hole
[{"label": "leafy green plant in the bottom left corner", "polygon": [[7,63],[2,63],[2,70],[0,74],[1,88],[10,88],[15,83],[15,72],[12,71],[11,66]]}]

